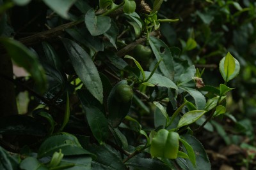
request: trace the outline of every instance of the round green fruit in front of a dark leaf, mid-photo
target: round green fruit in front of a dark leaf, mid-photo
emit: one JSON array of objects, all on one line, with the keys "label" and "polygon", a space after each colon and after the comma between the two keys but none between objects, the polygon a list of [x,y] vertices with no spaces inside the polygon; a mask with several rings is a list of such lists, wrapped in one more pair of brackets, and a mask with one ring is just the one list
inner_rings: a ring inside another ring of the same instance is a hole
[{"label": "round green fruit in front of a dark leaf, mid-photo", "polygon": [[133,96],[132,88],[129,85],[121,84],[116,87],[115,98],[121,103],[128,103]]}]

